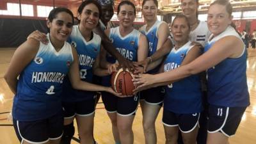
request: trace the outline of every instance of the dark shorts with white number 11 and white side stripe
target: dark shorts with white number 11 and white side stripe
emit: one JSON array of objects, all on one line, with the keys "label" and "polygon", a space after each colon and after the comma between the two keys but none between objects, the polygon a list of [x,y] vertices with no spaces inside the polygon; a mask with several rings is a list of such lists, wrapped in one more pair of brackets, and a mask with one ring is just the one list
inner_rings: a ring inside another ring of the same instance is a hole
[{"label": "dark shorts with white number 11 and white side stripe", "polygon": [[208,111],[208,132],[221,132],[228,137],[236,134],[245,109],[246,107],[229,108],[210,105]]}]

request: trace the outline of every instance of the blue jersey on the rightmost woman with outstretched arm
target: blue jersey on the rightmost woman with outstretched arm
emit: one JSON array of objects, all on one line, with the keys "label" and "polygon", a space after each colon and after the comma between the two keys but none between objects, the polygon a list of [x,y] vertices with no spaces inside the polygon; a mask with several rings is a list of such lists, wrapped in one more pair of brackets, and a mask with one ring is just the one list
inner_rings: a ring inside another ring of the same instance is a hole
[{"label": "blue jersey on the rightmost woman with outstretched arm", "polygon": [[[205,45],[205,51],[225,36],[240,38],[231,26]],[[242,41],[242,40],[241,40]],[[243,42],[243,41],[242,41]],[[221,47],[220,47],[221,48]],[[226,58],[207,70],[209,104],[227,107],[244,107],[250,104],[246,82],[246,48],[239,58]]]}]

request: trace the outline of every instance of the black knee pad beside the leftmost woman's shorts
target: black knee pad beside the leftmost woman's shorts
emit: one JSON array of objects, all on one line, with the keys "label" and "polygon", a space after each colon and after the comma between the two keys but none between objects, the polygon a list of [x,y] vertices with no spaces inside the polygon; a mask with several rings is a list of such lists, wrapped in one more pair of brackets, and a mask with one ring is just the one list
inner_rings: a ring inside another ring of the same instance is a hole
[{"label": "black knee pad beside the leftmost woman's shorts", "polygon": [[63,135],[60,144],[70,144],[72,137],[75,134],[74,122],[64,125]]}]

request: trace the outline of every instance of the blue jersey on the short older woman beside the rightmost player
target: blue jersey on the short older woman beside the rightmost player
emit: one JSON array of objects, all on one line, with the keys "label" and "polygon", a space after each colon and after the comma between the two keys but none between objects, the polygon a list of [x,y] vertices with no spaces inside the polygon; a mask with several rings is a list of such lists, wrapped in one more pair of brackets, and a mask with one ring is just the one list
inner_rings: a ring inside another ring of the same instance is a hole
[{"label": "blue jersey on the short older woman beside the rightmost player", "polygon": [[[186,54],[193,47],[189,41],[178,50],[172,49],[164,61],[164,72],[180,67]],[[173,113],[199,113],[202,111],[200,77],[193,75],[166,86],[164,109]]]}]

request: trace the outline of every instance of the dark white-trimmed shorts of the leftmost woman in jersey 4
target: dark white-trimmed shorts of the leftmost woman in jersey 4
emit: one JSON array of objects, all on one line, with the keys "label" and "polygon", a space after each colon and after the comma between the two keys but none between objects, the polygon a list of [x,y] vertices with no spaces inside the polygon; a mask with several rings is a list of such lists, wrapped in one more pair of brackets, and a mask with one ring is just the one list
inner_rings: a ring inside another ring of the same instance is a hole
[{"label": "dark white-trimmed shorts of the leftmost woman in jersey 4", "polygon": [[46,143],[49,140],[58,140],[63,134],[63,113],[43,120],[21,122],[13,118],[13,127],[20,143]]}]

